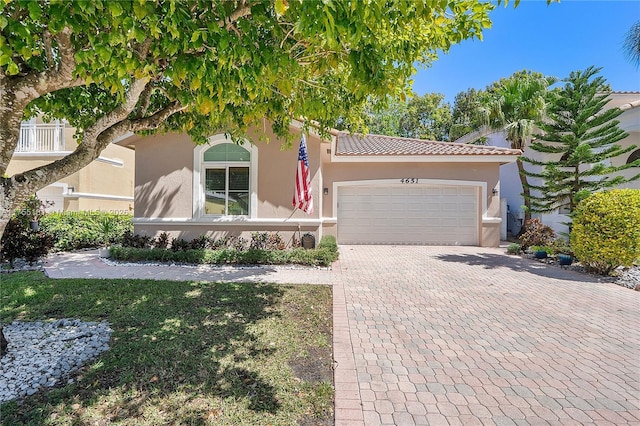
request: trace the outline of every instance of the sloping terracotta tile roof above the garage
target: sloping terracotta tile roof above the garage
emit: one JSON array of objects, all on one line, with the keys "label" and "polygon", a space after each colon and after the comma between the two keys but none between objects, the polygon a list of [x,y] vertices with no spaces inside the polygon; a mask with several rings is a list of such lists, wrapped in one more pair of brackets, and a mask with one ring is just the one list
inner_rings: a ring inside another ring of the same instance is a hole
[{"label": "sloping terracotta tile roof above the garage", "polygon": [[520,155],[518,149],[383,135],[338,133],[337,156]]}]

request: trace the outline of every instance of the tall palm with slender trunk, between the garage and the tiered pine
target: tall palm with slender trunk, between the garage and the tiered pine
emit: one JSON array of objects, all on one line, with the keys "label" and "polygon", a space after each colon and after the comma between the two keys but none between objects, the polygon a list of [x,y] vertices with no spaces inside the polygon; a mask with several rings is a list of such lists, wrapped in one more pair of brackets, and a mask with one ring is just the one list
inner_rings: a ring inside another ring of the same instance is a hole
[{"label": "tall palm with slender trunk, between the garage and the tiered pine", "polygon": [[[546,94],[556,79],[532,71],[519,71],[489,86],[481,96],[478,113],[485,126],[506,133],[512,149],[524,151],[535,123],[546,116]],[[481,135],[480,135],[481,136]],[[522,159],[516,160],[524,197],[524,219],[531,219],[531,195]]]}]

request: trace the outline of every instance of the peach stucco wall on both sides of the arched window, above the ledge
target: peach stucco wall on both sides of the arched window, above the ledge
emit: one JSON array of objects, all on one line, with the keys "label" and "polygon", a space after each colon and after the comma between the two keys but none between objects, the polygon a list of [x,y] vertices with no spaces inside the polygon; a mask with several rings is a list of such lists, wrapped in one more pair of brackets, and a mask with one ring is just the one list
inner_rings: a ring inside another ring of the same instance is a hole
[{"label": "peach stucco wall on both sides of the arched window, above the ledge", "polygon": [[[248,135],[257,147],[257,218],[318,218],[320,139],[307,138],[314,213],[294,213],[292,197],[298,158],[298,141],[291,149],[281,149],[282,141],[267,132],[269,142],[257,131]],[[328,144],[326,144],[328,146]],[[136,142],[135,217],[192,218],[193,166],[195,145],[187,135],[168,134],[142,138]],[[252,171],[253,172],[253,171]],[[255,188],[252,188],[255,189]]]}]

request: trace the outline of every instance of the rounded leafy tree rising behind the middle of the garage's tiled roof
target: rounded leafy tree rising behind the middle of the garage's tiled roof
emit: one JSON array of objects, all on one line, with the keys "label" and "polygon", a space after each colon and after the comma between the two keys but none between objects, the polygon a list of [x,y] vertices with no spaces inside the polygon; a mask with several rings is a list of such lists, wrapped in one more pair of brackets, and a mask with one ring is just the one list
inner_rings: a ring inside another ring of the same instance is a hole
[{"label": "rounded leafy tree rising behind the middle of the garage's tiled roof", "polygon": [[406,138],[449,140],[451,106],[440,93],[414,96],[399,121],[399,135]]}]

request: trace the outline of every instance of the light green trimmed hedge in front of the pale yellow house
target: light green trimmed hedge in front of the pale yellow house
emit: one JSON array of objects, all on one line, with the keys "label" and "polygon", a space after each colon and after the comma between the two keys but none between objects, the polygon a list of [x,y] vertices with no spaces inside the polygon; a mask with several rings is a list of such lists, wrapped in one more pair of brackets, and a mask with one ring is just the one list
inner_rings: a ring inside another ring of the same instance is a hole
[{"label": "light green trimmed hedge in front of the pale yellow house", "polygon": [[[106,218],[106,219],[105,219]],[[120,243],[133,232],[130,214],[109,212],[54,212],[40,219],[40,228],[53,236],[54,250],[68,251],[105,245],[103,224],[110,222],[109,240]]]}]

